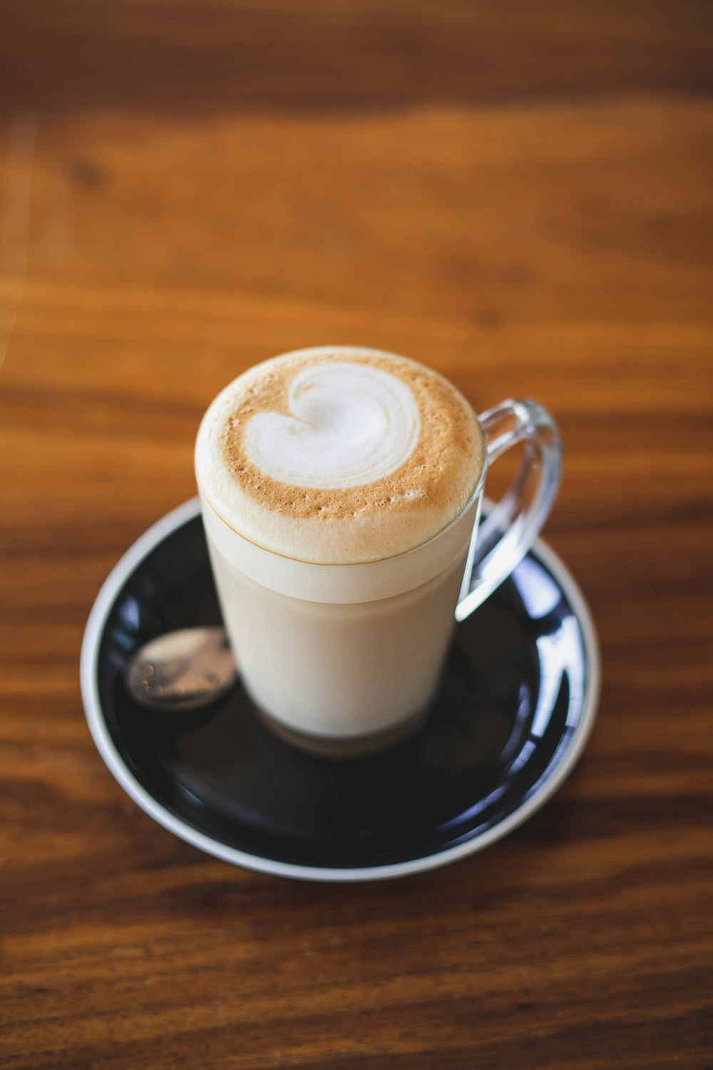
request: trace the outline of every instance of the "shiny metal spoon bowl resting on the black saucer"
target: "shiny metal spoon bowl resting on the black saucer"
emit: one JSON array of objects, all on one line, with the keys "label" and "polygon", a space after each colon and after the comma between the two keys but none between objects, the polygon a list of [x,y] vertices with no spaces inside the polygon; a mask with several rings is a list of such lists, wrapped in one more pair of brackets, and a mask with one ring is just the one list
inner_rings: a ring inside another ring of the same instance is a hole
[{"label": "shiny metal spoon bowl resting on the black saucer", "polygon": [[146,643],[127,662],[126,687],[151,709],[200,709],[224,694],[237,678],[222,628],[183,628]]}]

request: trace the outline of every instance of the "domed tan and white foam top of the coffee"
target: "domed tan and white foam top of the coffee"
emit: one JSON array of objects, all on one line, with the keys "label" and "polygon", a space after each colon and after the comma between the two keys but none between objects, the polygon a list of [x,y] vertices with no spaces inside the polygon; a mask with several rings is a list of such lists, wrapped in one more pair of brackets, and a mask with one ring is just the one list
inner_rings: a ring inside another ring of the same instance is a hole
[{"label": "domed tan and white foam top of the coffee", "polygon": [[405,357],[338,347],[258,365],[208,409],[201,493],[229,528],[301,562],[393,557],[447,528],[478,484],[472,410]]}]

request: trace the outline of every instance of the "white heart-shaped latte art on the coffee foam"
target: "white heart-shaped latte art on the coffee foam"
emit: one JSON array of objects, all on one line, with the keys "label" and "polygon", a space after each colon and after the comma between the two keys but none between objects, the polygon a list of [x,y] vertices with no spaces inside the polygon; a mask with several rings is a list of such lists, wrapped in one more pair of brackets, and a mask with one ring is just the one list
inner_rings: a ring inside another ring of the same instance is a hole
[{"label": "white heart-shaped latte art on the coffee foam", "polygon": [[416,398],[381,368],[304,368],[289,398],[291,415],[259,413],[245,432],[252,463],[280,483],[322,490],[374,483],[396,472],[418,442]]}]

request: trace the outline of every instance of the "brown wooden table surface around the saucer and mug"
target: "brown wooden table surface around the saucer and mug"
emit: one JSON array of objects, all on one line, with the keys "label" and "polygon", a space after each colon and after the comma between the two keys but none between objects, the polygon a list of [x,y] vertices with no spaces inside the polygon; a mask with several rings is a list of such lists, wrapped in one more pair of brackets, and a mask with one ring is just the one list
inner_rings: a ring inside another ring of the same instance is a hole
[{"label": "brown wooden table surface around the saucer and mug", "polygon": [[[10,0],[0,32],[0,1061],[710,1067],[710,4]],[[558,795],[418,877],[153,824],[90,739],[106,574],[275,353],[533,396],[601,637]]]}]

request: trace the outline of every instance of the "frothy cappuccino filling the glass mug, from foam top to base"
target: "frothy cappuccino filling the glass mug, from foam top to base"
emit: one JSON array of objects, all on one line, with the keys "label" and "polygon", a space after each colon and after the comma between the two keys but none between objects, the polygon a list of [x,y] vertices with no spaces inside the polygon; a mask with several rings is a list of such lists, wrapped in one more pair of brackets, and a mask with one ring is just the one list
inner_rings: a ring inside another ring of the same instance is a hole
[{"label": "frothy cappuccino filling the glass mug, from foam top to base", "polygon": [[405,357],[304,350],[218,395],[196,448],[203,519],[241,674],[273,728],[308,749],[368,748],[424,709],[484,467],[470,406]]}]

